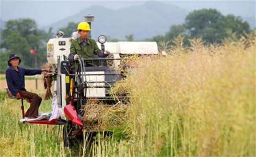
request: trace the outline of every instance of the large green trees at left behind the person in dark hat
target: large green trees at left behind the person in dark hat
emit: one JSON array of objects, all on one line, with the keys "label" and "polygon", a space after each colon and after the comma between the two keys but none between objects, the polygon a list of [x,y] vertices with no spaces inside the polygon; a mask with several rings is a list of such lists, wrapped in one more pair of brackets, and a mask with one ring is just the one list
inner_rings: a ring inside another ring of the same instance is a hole
[{"label": "large green trees at left behind the person in dark hat", "polygon": [[[1,32],[1,48],[5,49],[4,55],[1,55],[2,61],[6,61],[11,53],[16,53],[22,58],[21,65],[28,68],[35,68],[34,56],[36,55],[38,65],[46,62],[46,42],[52,37],[50,29],[48,33],[37,28],[35,20],[29,18],[20,18],[6,22],[5,28]],[[30,50],[37,52],[33,55]],[[1,73],[5,71],[6,66],[1,64]],[[39,68],[37,66],[36,68]]]}]

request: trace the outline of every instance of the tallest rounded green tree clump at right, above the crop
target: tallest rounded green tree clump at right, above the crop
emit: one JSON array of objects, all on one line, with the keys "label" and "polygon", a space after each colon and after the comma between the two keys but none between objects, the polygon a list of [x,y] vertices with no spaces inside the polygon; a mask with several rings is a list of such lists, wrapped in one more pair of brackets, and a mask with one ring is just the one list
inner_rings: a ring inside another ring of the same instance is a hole
[{"label": "tallest rounded green tree clump at right, above the crop", "polygon": [[224,16],[216,9],[201,9],[189,13],[184,26],[191,38],[202,37],[207,43],[221,43],[225,37],[234,33],[239,38],[244,32],[250,31],[248,22],[243,22],[241,17]]}]

